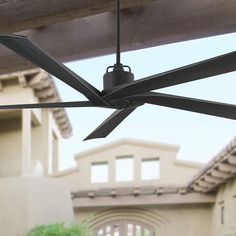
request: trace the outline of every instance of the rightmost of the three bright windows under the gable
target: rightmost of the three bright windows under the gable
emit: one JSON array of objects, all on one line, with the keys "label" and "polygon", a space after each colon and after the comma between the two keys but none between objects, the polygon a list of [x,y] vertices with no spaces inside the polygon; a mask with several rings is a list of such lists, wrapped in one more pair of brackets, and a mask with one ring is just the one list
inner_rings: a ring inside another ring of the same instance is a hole
[{"label": "rightmost of the three bright windows under the gable", "polygon": [[160,161],[157,158],[144,159],[141,165],[142,180],[160,179]]}]

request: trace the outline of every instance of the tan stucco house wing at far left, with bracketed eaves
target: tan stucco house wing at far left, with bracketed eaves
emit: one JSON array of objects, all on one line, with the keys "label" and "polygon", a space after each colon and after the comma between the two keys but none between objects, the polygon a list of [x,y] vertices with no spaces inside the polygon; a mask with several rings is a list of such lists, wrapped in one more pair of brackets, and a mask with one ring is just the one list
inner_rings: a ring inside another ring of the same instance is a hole
[{"label": "tan stucco house wing at far left, with bracketed eaves", "polygon": [[[59,101],[42,70],[0,76],[1,104]],[[63,109],[0,111],[0,235],[21,236],[37,224],[73,221],[69,187],[58,170],[60,140],[72,132]]]}]

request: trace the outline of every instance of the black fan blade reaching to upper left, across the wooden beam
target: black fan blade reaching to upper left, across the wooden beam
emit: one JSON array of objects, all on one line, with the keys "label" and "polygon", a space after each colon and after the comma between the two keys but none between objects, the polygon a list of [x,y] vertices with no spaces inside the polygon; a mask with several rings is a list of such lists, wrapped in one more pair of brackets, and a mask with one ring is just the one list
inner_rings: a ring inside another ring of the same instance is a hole
[{"label": "black fan blade reaching to upper left, across the wooden beam", "polygon": [[0,43],[81,92],[93,103],[106,104],[101,98],[100,91],[69,68],[55,61],[28,38],[19,35],[0,34]]}]

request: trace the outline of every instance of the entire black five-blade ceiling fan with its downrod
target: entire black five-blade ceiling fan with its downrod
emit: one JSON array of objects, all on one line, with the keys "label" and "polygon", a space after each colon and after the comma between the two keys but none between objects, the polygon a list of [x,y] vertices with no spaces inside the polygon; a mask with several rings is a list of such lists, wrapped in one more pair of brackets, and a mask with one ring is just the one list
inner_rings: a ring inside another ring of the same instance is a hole
[{"label": "entire black five-blade ceiling fan with its downrod", "polygon": [[[231,52],[164,73],[134,80],[129,66],[120,60],[120,0],[116,0],[116,64],[107,68],[104,88],[97,90],[79,75],[55,61],[24,36],[0,34],[0,43],[54,75],[88,98],[88,101],[1,105],[0,109],[104,107],[116,109],[85,140],[109,135],[137,107],[145,103],[236,120],[236,106],[188,97],[151,92],[236,70],[236,52]],[[110,71],[112,69],[112,71]]]}]

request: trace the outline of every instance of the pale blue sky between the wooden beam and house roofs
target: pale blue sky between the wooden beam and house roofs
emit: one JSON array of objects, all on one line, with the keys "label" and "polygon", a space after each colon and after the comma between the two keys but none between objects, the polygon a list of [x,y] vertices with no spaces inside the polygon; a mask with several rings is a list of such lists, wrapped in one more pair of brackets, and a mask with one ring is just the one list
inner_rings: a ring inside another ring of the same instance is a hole
[{"label": "pale blue sky between the wooden beam and house roofs", "polygon": [[[135,79],[235,51],[236,33],[185,41],[122,53]],[[93,86],[102,90],[106,68],[115,63],[107,55],[66,63]],[[236,62],[235,62],[236,63]],[[83,95],[55,79],[63,101],[87,100]],[[158,92],[236,104],[236,72],[159,89]],[[207,162],[236,134],[236,121],[178,109],[145,104],[136,109],[107,138],[83,141],[114,110],[105,108],[66,109],[73,136],[63,139],[60,168],[75,165],[74,155],[121,138],[134,138],[180,146],[177,158]]]}]

